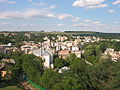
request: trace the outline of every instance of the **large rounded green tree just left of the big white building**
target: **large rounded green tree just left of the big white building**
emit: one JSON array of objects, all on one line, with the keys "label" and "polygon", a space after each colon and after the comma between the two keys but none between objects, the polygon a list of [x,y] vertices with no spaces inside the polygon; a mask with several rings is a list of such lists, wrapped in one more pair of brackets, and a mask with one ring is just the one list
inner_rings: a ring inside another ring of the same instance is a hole
[{"label": "large rounded green tree just left of the big white building", "polygon": [[23,58],[23,71],[27,77],[38,82],[38,77],[43,73],[42,59],[34,55],[25,55]]}]

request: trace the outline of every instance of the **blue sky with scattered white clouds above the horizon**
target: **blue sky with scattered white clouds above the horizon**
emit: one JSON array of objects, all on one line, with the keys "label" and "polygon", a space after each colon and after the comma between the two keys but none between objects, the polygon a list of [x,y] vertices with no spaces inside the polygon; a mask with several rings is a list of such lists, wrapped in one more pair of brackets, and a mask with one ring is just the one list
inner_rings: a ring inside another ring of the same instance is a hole
[{"label": "blue sky with scattered white clouds above the horizon", "polygon": [[0,0],[0,31],[120,33],[120,0]]}]

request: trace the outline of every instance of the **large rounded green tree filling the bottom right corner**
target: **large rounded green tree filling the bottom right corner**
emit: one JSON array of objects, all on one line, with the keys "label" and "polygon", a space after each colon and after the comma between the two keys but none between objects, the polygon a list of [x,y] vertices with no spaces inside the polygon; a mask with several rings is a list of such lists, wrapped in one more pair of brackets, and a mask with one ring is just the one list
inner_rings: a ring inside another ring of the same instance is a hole
[{"label": "large rounded green tree filling the bottom right corner", "polygon": [[96,88],[100,90],[119,90],[120,88],[120,61],[104,60],[95,66],[93,75]]}]

